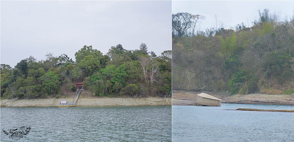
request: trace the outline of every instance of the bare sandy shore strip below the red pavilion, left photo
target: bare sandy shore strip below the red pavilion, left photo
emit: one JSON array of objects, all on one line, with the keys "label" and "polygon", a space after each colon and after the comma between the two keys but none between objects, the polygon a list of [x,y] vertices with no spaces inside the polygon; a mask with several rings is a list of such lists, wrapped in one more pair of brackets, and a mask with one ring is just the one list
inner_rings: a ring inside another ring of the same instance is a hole
[{"label": "bare sandy shore strip below the red pavilion, left photo", "polygon": [[[69,102],[73,98],[61,99],[2,99],[1,107],[57,107],[60,100]],[[171,98],[145,97],[145,98],[79,98],[76,104],[81,107],[93,106],[168,106]]]}]

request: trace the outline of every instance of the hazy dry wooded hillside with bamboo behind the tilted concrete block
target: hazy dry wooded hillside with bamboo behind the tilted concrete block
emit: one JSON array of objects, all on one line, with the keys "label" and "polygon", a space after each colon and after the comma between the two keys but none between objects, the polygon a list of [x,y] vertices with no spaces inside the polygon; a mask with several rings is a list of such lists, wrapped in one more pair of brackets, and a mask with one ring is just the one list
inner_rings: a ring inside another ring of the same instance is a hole
[{"label": "hazy dry wooded hillside with bamboo behind the tilted concrete block", "polygon": [[250,27],[197,32],[204,16],[174,13],[173,90],[294,98],[294,13],[281,18],[268,9],[258,12]]}]

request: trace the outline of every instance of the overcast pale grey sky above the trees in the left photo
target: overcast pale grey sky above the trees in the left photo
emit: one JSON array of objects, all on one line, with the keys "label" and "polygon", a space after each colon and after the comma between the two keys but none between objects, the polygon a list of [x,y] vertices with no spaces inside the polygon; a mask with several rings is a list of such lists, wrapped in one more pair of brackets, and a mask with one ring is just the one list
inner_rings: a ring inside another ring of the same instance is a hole
[{"label": "overcast pale grey sky above the trees in the left photo", "polygon": [[1,64],[47,52],[75,60],[83,45],[106,54],[119,43],[171,50],[171,1],[1,1]]}]

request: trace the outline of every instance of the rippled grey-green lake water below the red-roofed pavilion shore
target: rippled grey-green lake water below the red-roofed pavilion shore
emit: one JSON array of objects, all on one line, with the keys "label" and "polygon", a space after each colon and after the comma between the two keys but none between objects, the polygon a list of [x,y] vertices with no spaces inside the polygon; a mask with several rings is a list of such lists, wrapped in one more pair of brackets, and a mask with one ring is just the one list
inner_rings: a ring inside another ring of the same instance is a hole
[{"label": "rippled grey-green lake water below the red-roofed pavilion shore", "polygon": [[[2,132],[21,126],[20,139]],[[1,141],[171,141],[171,106],[1,107]]]}]

